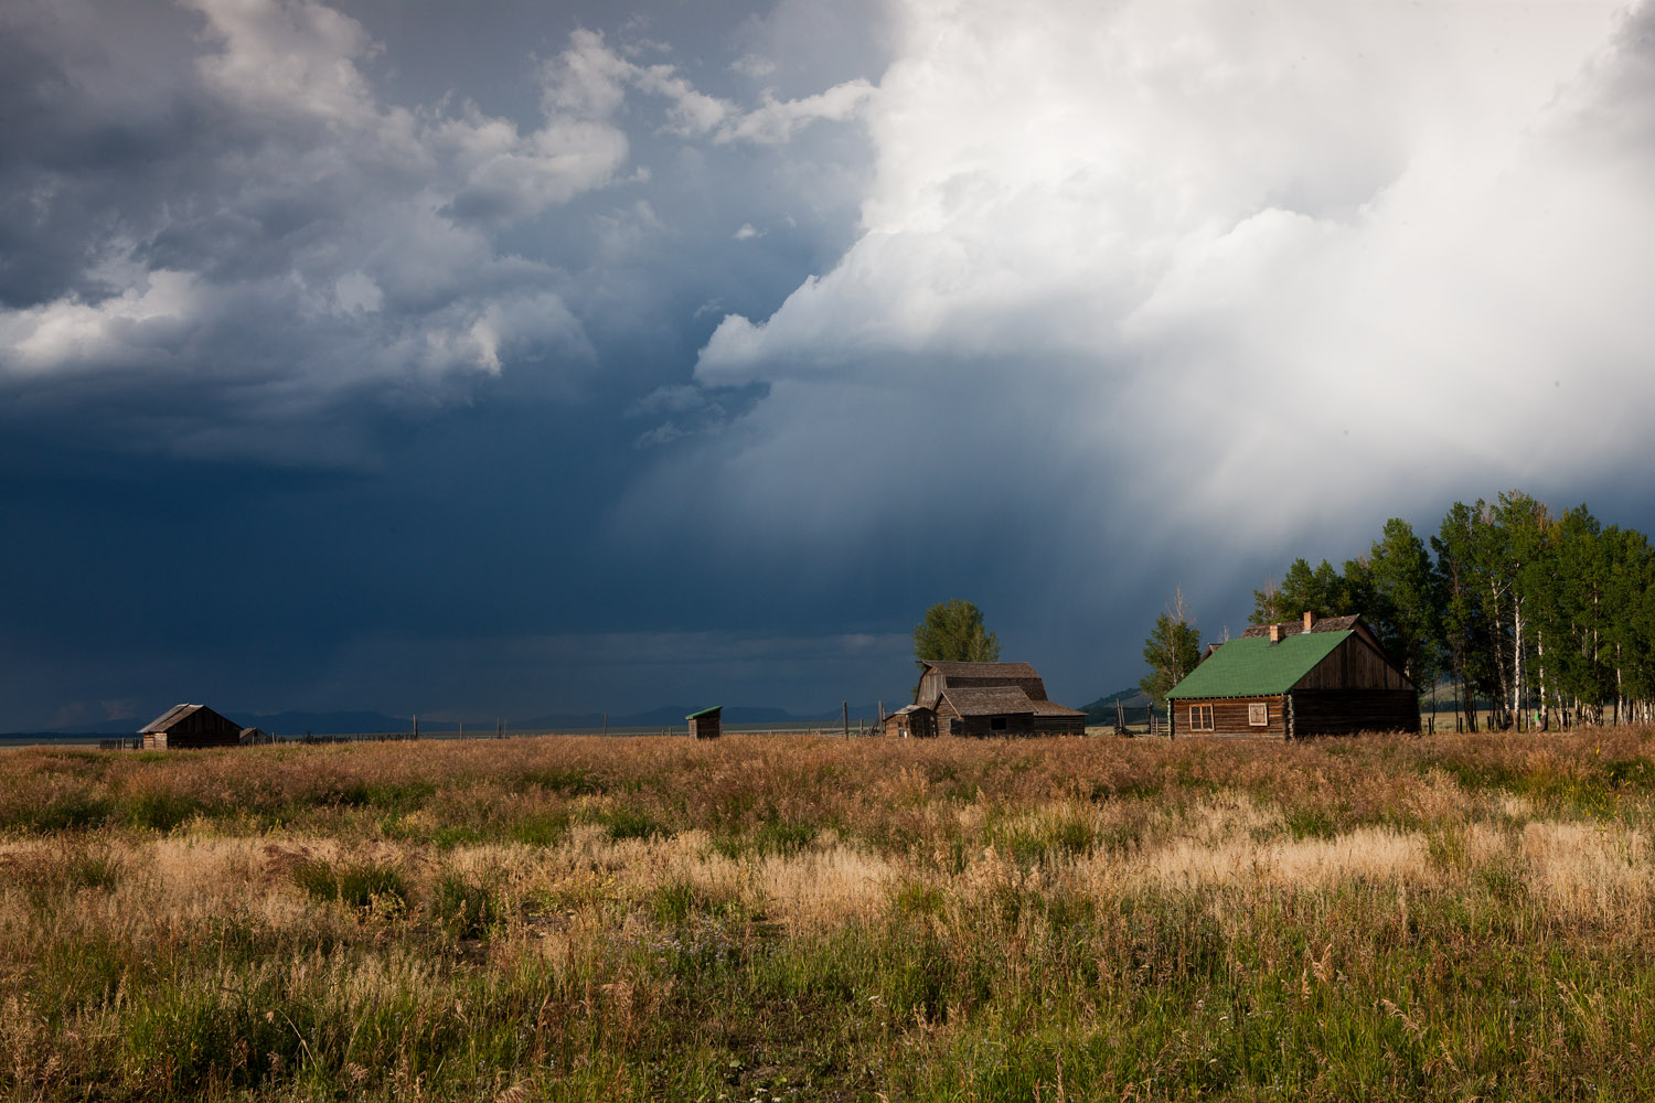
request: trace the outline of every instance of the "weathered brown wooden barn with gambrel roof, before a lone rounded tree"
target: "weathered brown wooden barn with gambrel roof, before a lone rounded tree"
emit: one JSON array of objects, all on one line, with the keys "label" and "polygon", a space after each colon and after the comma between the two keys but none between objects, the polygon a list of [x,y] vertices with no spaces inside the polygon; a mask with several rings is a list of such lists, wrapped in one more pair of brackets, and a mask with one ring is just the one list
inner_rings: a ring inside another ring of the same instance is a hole
[{"label": "weathered brown wooden barn with gambrel roof, before a lone rounded tree", "polygon": [[1086,713],[1048,700],[1028,663],[927,661],[915,704],[950,736],[1086,734]]}]

